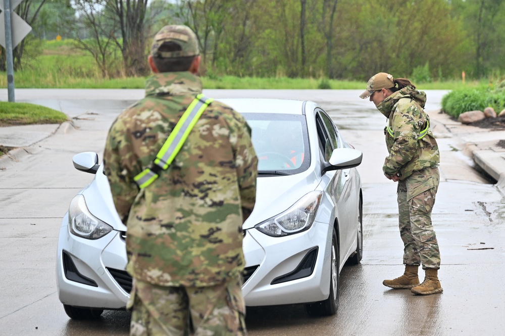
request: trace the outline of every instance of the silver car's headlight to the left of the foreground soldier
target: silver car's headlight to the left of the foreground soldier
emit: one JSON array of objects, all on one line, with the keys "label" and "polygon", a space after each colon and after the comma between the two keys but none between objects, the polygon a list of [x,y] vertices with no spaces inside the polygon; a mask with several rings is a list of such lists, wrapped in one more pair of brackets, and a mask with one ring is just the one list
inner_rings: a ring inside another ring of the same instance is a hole
[{"label": "silver car's headlight to the left of the foreground soldier", "polygon": [[70,232],[86,239],[98,239],[113,230],[112,226],[89,212],[84,196],[80,194],[70,202],[68,225]]}]

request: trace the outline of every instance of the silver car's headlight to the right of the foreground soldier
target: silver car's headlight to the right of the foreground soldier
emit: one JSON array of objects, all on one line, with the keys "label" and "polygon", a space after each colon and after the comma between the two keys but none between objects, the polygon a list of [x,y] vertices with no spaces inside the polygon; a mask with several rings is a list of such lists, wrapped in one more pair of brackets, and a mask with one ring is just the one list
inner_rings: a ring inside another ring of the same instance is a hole
[{"label": "silver car's headlight to the right of the foreground soldier", "polygon": [[282,237],[305,231],[314,223],[322,195],[321,191],[312,191],[286,211],[256,224],[255,228],[272,237]]}]

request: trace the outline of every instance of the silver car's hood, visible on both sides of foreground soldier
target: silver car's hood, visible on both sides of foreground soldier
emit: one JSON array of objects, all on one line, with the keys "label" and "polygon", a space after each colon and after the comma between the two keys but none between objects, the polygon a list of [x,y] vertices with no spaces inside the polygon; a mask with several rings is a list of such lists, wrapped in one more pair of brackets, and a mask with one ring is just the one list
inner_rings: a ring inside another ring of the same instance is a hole
[{"label": "silver car's hood, visible on both sides of foreground soldier", "polygon": [[[249,229],[287,210],[302,196],[317,188],[320,179],[313,172],[306,171],[288,176],[261,176],[256,183],[256,204],[254,211],[245,221],[243,228]],[[89,212],[111,225],[115,230],[126,231],[112,200],[107,176],[100,166],[91,183],[81,190]]]}]

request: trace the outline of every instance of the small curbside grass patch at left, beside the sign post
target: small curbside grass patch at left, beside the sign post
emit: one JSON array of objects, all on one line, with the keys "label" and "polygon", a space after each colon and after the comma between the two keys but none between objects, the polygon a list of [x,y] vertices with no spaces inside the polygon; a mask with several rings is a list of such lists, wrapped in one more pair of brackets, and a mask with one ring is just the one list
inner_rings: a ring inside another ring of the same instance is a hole
[{"label": "small curbside grass patch at left, beside the sign post", "polygon": [[61,124],[66,120],[64,113],[44,106],[0,102],[0,126]]}]

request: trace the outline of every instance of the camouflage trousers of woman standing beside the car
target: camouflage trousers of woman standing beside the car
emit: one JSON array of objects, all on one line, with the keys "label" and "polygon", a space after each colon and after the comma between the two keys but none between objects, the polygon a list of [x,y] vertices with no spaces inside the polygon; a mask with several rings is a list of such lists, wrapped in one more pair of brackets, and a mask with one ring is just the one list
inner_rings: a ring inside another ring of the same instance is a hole
[{"label": "camouflage trousers of woman standing beside the car", "polygon": [[398,223],[403,241],[403,263],[440,268],[440,250],[431,211],[440,183],[438,168],[415,171],[398,181]]}]

